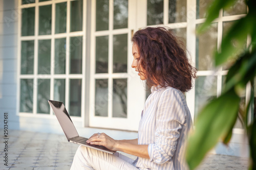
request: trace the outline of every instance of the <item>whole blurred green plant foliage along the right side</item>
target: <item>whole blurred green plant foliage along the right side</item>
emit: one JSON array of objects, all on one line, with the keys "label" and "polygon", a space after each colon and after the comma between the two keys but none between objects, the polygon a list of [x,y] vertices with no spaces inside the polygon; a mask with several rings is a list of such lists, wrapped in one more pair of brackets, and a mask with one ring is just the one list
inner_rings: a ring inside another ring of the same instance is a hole
[{"label": "whole blurred green plant foliage along the right side", "polygon": [[[206,20],[197,30],[198,34],[207,30],[210,23],[219,17],[221,9],[227,9],[237,0],[215,0],[207,10]],[[223,37],[220,49],[215,53],[215,65],[234,61],[229,67],[223,93],[209,102],[195,120],[194,133],[189,136],[186,160],[190,169],[200,164],[206,153],[222,139],[227,144],[232,136],[232,128],[237,118],[243,117],[250,144],[250,167],[256,169],[256,118],[248,122],[249,112],[253,111],[253,81],[256,74],[256,1],[246,0],[248,13],[237,20]],[[245,47],[244,43],[250,41]],[[251,97],[242,112],[239,108],[239,93],[247,83],[251,84]]]}]

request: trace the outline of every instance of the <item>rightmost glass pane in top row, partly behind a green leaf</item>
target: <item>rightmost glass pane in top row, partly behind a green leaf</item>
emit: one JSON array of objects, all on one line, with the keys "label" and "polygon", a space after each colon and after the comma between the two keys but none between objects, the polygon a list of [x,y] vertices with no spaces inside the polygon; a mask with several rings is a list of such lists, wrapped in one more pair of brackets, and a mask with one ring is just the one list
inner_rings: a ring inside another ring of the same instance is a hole
[{"label": "rightmost glass pane in top row, partly behind a green leaf", "polygon": [[223,16],[228,15],[240,15],[247,13],[247,6],[244,0],[238,0],[235,4],[230,6],[228,9],[223,10]]}]

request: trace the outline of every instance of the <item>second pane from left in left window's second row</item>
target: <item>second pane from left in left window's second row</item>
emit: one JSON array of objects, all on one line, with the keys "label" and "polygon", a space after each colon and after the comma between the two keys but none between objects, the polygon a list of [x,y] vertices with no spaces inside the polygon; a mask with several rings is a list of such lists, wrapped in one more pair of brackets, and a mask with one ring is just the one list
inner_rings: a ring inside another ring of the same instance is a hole
[{"label": "second pane from left in left window's second row", "polygon": [[38,74],[51,74],[51,40],[38,40]]}]

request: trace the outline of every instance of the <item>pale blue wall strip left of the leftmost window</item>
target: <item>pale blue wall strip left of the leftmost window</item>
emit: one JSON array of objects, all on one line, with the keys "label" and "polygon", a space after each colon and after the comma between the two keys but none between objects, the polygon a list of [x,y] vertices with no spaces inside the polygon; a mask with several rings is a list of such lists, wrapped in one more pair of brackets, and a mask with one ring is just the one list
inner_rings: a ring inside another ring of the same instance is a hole
[{"label": "pale blue wall strip left of the leftmost window", "polygon": [[7,112],[12,129],[19,128],[16,116],[17,24],[17,1],[0,0],[0,121],[2,124]]}]

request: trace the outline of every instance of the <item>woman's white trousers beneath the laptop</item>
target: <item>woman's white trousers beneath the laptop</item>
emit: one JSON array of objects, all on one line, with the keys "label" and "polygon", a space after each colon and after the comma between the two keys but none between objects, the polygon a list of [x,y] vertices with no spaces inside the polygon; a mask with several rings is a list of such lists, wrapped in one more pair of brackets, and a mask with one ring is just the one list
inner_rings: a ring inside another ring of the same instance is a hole
[{"label": "woman's white trousers beneath the laptop", "polygon": [[133,159],[126,157],[118,152],[112,155],[80,145],[76,151],[70,170],[138,170],[138,168],[133,165],[133,162]]}]

